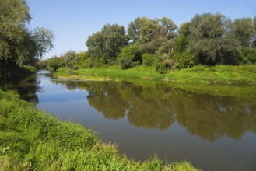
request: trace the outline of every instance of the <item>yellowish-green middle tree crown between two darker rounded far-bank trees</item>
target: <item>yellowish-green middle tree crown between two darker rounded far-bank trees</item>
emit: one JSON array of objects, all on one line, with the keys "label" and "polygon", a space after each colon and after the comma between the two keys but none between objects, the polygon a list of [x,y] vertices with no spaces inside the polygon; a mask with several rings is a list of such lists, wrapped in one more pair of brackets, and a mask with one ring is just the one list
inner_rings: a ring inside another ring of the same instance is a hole
[{"label": "yellowish-green middle tree crown between two darker rounded far-bank trees", "polygon": [[136,44],[141,53],[170,54],[174,47],[177,26],[171,19],[148,19],[138,17],[128,26],[131,44]]}]

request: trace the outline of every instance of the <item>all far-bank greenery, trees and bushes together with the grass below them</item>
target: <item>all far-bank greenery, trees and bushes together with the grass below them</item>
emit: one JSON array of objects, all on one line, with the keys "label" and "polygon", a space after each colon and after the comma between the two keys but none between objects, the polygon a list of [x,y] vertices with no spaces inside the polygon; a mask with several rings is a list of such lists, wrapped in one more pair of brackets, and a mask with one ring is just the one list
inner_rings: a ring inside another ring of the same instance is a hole
[{"label": "all far-bank greenery, trees and bushes together with the grass below them", "polygon": [[[79,77],[255,83],[255,45],[256,17],[232,21],[219,13],[204,13],[179,28],[167,17],[138,17],[127,30],[117,24],[103,26],[88,37],[88,51],[68,51],[40,61],[39,66],[52,71],[66,67],[69,75]],[[67,76],[63,71],[56,75]]]}]

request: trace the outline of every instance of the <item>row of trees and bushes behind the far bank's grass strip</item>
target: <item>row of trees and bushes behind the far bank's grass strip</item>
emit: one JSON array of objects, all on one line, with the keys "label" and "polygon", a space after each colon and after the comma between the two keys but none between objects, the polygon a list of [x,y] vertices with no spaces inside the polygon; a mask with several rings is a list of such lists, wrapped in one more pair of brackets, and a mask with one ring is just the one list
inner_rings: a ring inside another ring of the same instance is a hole
[{"label": "row of trees and bushes behind the far bank's grass strip", "polygon": [[[195,15],[178,29],[166,17],[138,17],[128,24],[127,33],[124,26],[103,26],[86,41],[88,52],[70,56],[68,61],[72,65],[62,64],[75,69],[146,65],[167,73],[194,65],[255,64],[255,45],[256,17],[231,20],[220,13],[204,13]],[[61,63],[65,55],[47,60],[47,67],[54,68],[51,61]]]}]

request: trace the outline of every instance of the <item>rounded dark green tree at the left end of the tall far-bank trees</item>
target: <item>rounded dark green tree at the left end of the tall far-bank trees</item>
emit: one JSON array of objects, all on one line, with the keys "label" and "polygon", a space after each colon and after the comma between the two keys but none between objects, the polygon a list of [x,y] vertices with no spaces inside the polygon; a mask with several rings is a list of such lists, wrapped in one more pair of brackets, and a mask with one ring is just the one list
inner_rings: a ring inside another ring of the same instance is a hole
[{"label": "rounded dark green tree at the left end of the tall far-bank trees", "polygon": [[128,38],[125,28],[117,24],[103,26],[100,32],[89,36],[86,41],[89,55],[103,64],[113,63],[121,48],[126,45],[128,45]]}]

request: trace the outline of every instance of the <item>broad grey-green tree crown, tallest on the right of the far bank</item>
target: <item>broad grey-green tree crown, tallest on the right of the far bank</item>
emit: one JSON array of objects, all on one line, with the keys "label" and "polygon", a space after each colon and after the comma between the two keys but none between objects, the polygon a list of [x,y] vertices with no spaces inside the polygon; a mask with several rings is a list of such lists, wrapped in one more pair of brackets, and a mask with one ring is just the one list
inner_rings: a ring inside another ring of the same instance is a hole
[{"label": "broad grey-green tree crown, tallest on the right of the far bank", "polygon": [[230,19],[219,13],[195,15],[189,31],[188,49],[199,64],[237,64],[241,47]]}]

